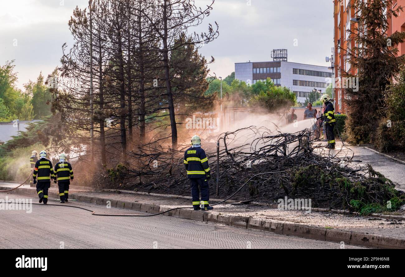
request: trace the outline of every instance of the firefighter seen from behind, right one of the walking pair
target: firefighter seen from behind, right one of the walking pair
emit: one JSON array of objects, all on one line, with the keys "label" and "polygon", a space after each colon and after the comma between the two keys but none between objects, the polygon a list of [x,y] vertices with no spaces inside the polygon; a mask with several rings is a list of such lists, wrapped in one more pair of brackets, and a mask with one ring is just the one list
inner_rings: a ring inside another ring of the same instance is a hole
[{"label": "firefighter seen from behind, right one of the walking pair", "polygon": [[66,155],[61,153],[59,155],[59,162],[55,164],[55,183],[58,181],[60,202],[68,202],[69,185],[73,180],[73,169],[70,163],[66,162]]}]

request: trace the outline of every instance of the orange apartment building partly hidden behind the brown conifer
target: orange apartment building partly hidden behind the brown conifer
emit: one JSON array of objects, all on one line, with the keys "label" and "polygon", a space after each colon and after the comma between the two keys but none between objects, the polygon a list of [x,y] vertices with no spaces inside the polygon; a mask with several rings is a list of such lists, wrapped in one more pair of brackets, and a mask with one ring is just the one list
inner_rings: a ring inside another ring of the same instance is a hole
[{"label": "orange apartment building partly hidden behind the brown conifer", "polygon": [[[364,2],[372,0],[364,0]],[[358,23],[351,19],[356,18],[354,10],[354,0],[334,0],[334,72],[335,78],[341,77],[341,70],[346,70],[355,75],[356,69],[350,68],[350,64],[345,60],[345,49],[354,47],[355,41],[351,38],[346,30],[354,30],[354,26]],[[399,17],[389,19],[389,28],[387,35],[390,36],[394,32],[405,31],[405,0],[394,0],[392,9],[397,9],[399,6],[404,8],[404,11],[399,13]],[[342,49],[341,49],[342,48]],[[405,43],[398,46],[398,55],[405,54]],[[335,88],[335,111],[344,113],[344,89]]]}]

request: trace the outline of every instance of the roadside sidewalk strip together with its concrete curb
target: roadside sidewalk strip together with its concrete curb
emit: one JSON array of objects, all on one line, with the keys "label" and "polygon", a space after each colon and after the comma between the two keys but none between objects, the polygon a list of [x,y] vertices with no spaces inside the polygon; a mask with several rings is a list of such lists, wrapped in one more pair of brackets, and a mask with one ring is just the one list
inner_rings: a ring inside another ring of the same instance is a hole
[{"label": "roadside sidewalk strip together with its concrete curb", "polygon": [[[15,187],[14,183],[0,182],[0,190]],[[35,188],[24,185],[15,190],[36,199]],[[135,211],[158,213],[175,207],[190,207],[190,200],[179,197],[151,196],[148,194],[126,193],[121,191],[90,191],[83,187],[70,188],[71,201],[90,202]],[[4,196],[2,196],[4,197]],[[58,199],[58,190],[49,190],[50,199]],[[211,201],[214,204],[215,201]],[[344,241],[347,244],[381,248],[405,248],[405,228],[403,222],[392,219],[362,217],[336,213],[304,211],[282,211],[257,205],[215,206],[211,212],[175,210],[165,215],[194,220],[226,224],[242,228],[275,232],[277,234],[308,237],[325,241]]]}]

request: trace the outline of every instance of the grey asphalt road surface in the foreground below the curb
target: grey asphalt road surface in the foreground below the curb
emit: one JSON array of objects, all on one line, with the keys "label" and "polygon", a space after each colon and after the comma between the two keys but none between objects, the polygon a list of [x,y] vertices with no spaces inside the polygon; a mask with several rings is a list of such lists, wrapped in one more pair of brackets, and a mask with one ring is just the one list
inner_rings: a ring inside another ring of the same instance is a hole
[{"label": "grey asphalt road surface in the foreground below the curb", "polygon": [[[0,194],[0,198],[27,198]],[[38,203],[37,198],[33,203]],[[59,204],[51,199],[49,204]],[[97,213],[135,212],[81,203]],[[332,248],[339,243],[248,230],[220,224],[158,215],[153,217],[100,217],[75,208],[32,205],[23,210],[0,211],[0,248]],[[345,248],[361,248],[346,245]]]}]

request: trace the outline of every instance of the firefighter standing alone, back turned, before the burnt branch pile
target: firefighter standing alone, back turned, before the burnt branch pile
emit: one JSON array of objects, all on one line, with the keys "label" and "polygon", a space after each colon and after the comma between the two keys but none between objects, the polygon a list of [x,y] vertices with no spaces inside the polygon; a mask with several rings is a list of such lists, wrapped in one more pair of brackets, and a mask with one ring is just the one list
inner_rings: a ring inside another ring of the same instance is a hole
[{"label": "firefighter standing alone, back turned, before the burnt branch pile", "polygon": [[[209,185],[211,178],[208,166],[208,158],[205,151],[201,148],[201,139],[195,135],[191,139],[191,147],[184,152],[184,166],[187,170],[187,178],[190,179],[192,204],[194,210],[204,211],[214,209],[209,205]],[[201,189],[201,201],[200,191]],[[201,204],[201,207],[200,207]]]}]

